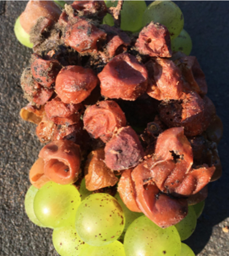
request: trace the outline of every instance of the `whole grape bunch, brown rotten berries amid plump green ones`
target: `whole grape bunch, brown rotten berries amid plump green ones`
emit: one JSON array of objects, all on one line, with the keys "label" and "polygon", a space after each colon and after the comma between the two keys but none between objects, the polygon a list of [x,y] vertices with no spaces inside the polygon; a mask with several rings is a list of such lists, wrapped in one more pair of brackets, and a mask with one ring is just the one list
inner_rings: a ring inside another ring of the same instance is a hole
[{"label": "whole grape bunch, brown rotten berries amid plump green ones", "polygon": [[[222,122],[172,1],[29,1],[20,115],[45,146],[25,211],[61,256],[193,256]],[[200,122],[202,120],[202,122]]]}]

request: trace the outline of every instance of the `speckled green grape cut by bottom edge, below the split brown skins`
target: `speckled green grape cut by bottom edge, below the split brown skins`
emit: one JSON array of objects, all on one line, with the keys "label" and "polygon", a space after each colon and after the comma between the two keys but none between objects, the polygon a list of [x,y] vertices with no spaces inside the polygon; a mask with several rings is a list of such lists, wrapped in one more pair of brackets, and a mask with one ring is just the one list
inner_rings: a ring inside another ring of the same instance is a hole
[{"label": "speckled green grape cut by bottom edge, below the split brown skins", "polygon": [[124,249],[126,256],[178,256],[181,241],[174,226],[163,229],[141,216],[127,229]]}]

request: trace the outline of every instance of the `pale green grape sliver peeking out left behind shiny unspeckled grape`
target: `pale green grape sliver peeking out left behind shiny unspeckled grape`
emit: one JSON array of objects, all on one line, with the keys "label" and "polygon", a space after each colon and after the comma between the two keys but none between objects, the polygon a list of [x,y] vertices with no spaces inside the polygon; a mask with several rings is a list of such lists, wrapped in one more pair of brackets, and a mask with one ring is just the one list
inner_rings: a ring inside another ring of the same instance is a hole
[{"label": "pale green grape sliver peeking out left behind shiny unspeckled grape", "polygon": [[42,223],[37,219],[34,210],[33,210],[33,200],[34,197],[37,193],[38,189],[36,187],[34,187],[33,185],[29,187],[29,189],[26,192],[25,195],[25,212],[28,216],[28,218],[31,220],[31,222],[33,222],[34,224],[36,224],[37,226],[43,227],[45,228],[44,225],[42,225]]}]

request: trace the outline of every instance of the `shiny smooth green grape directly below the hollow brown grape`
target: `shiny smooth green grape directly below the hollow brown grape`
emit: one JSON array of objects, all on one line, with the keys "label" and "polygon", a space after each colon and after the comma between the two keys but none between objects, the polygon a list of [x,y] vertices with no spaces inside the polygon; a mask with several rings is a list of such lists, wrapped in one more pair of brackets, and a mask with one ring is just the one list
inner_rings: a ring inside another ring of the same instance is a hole
[{"label": "shiny smooth green grape directly below the hollow brown grape", "polygon": [[74,185],[60,185],[48,182],[36,193],[34,213],[48,228],[59,228],[75,222],[80,195]]}]

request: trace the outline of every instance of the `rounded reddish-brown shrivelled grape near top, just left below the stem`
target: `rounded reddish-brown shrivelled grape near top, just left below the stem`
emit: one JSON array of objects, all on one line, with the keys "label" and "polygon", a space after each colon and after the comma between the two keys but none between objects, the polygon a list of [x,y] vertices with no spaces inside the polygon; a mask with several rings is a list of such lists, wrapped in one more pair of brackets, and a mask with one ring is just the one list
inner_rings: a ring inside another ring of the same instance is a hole
[{"label": "rounded reddish-brown shrivelled grape near top, just left below the stem", "polygon": [[97,51],[105,40],[106,33],[85,18],[75,17],[67,23],[64,43],[80,53]]}]

